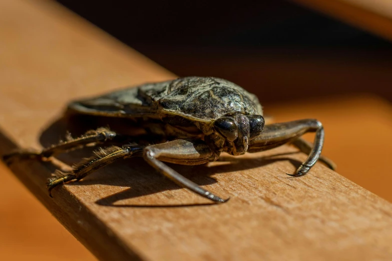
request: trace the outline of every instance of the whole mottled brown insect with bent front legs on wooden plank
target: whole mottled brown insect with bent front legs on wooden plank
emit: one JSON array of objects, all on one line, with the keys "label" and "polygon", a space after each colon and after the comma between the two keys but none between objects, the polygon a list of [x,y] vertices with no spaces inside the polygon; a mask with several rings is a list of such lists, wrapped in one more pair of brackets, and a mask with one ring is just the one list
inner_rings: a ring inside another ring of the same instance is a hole
[{"label": "whole mottled brown insect with bent front legs on wooden plank", "polygon": [[[301,119],[264,124],[261,104],[254,94],[216,77],[182,77],[146,83],[105,95],[72,101],[68,109],[76,114],[119,118],[126,126],[138,128],[140,134],[124,134],[106,127],[52,145],[42,151],[21,150],[4,156],[48,158],[86,145],[121,143],[100,147],[95,154],[74,165],[71,172],[56,171],[48,179],[48,189],[71,180],[80,180],[120,158],[143,157],[159,173],[178,185],[211,199],[228,199],[207,191],[182,176],[164,162],[185,165],[203,164],[218,159],[221,152],[242,155],[292,142],[308,154],[291,176],[301,176],[320,158],[329,167],[334,164],[320,155],[324,130],[316,119]],[[300,136],[315,132],[311,144]]]}]

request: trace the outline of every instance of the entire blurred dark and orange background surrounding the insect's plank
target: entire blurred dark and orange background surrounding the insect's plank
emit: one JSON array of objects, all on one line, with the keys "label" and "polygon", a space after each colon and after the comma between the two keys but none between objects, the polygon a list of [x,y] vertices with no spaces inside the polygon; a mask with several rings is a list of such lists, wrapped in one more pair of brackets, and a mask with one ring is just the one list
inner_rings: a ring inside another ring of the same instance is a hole
[{"label": "entire blurred dark and orange background surrounding the insect's plank", "polygon": [[[57,2],[177,75],[222,77],[254,92],[275,121],[317,117],[337,172],[392,201],[387,0]],[[95,259],[0,167],[0,192],[10,198],[0,203],[0,256]],[[11,205],[21,212],[5,211]]]}]

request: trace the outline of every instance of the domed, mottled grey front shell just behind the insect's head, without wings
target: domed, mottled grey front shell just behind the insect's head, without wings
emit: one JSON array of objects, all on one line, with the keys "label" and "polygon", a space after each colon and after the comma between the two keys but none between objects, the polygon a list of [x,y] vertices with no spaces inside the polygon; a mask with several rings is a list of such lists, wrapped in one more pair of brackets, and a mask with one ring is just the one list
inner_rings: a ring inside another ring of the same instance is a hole
[{"label": "domed, mottled grey front shell just behind the insect's head, without wings", "polygon": [[147,91],[159,108],[169,113],[205,120],[227,113],[262,115],[262,108],[251,94],[225,79],[216,77],[184,77],[171,81],[163,92]]}]

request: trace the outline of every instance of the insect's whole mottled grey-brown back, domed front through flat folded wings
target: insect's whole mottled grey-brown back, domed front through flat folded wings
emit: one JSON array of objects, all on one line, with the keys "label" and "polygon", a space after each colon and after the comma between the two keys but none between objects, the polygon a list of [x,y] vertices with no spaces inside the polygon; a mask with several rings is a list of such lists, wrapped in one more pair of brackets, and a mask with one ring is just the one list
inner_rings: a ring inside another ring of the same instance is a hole
[{"label": "insect's whole mottled grey-brown back, domed front through flat folded wings", "polygon": [[92,115],[174,115],[196,121],[211,121],[232,112],[262,115],[257,97],[240,86],[221,78],[196,76],[146,83],[76,100],[69,108]]}]

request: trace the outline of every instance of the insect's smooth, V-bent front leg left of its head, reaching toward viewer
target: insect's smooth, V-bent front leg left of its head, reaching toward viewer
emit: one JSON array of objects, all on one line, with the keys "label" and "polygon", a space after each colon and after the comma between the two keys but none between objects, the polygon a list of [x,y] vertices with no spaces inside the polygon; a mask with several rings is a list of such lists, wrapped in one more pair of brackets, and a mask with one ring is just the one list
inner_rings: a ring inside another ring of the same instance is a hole
[{"label": "insect's smooth, V-bent front leg left of its head, reaching toward viewer", "polygon": [[203,140],[177,139],[166,143],[150,145],[144,149],[143,157],[161,174],[196,194],[217,203],[222,203],[229,199],[222,199],[212,194],[162,162],[166,161],[184,165],[197,165],[208,161],[214,161],[217,158],[217,155]]}]

